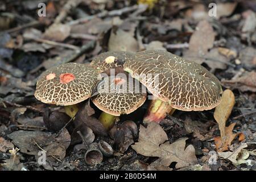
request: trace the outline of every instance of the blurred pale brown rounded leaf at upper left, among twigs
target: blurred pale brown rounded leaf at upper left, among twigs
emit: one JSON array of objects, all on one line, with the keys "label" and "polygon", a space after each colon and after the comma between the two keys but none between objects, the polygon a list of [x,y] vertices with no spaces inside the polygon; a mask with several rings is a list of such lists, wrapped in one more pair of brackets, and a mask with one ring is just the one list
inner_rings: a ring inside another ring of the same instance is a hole
[{"label": "blurred pale brown rounded leaf at upper left, among twigs", "polygon": [[48,40],[63,42],[69,36],[70,31],[71,27],[68,24],[52,24],[47,28],[43,36]]}]

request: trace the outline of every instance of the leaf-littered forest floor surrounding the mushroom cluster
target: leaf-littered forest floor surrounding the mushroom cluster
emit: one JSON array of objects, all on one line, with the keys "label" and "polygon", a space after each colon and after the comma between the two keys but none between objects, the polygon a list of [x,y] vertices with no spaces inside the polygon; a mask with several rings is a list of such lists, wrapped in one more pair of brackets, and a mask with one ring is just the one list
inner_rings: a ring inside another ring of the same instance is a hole
[{"label": "leaf-littered forest floor surrounding the mushroom cluster", "polygon": [[[1,1],[0,170],[255,170],[256,3],[212,2]],[[121,115],[118,133],[102,137],[90,130],[89,120],[100,114],[92,103],[95,114],[81,119],[88,127],[77,128],[63,107],[34,97],[48,68],[145,49],[164,49],[207,68],[229,89],[222,112],[176,110],[159,125],[146,125],[147,101]],[[123,125],[127,120],[135,131]],[[93,149],[102,140],[113,147],[111,156]]]}]

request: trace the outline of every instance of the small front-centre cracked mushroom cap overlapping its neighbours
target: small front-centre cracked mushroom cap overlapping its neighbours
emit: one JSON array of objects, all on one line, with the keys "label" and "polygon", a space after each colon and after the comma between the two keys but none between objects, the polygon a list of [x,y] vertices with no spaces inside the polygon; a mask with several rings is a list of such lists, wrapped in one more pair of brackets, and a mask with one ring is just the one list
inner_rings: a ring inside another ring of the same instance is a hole
[{"label": "small front-centre cracked mushroom cap overlapping its neighbours", "polygon": [[132,77],[105,77],[97,91],[97,96],[92,99],[94,105],[115,116],[132,113],[147,97],[146,88]]}]

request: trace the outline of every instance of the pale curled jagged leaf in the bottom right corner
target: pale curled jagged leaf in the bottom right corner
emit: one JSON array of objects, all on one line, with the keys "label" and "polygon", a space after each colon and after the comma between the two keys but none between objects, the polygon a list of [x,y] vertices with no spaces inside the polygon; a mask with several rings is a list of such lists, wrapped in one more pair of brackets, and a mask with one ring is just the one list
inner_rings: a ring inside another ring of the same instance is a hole
[{"label": "pale curled jagged leaf in the bottom right corner", "polygon": [[[247,144],[242,143],[235,151],[218,152],[218,155],[223,159],[229,159],[234,165],[239,165],[242,162],[241,160],[245,160],[249,157],[249,155],[247,157],[245,157],[245,155],[241,155],[242,149],[246,147],[247,147]],[[239,160],[240,162],[238,163]]]}]

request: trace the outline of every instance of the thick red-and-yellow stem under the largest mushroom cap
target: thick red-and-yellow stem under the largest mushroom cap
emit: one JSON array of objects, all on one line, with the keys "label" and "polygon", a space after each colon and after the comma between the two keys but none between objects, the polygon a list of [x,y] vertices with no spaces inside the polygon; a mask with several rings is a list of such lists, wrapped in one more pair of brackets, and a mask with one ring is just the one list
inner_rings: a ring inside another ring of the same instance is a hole
[{"label": "thick red-and-yellow stem under the largest mushroom cap", "polygon": [[175,109],[168,102],[163,102],[159,99],[151,100],[143,122],[149,123],[154,121],[159,123],[166,117],[167,113],[172,114],[174,111]]}]

